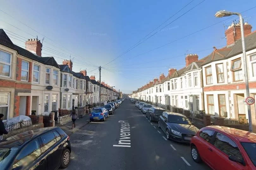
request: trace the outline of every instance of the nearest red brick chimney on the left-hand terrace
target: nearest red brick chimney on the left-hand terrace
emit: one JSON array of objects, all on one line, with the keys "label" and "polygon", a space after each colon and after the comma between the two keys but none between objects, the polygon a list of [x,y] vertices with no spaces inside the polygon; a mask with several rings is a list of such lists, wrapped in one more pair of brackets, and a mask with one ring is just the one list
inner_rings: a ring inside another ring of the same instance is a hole
[{"label": "nearest red brick chimney on the left-hand terrace", "polygon": [[28,39],[25,42],[26,50],[36,53],[38,56],[42,56],[42,46],[43,44],[37,38]]}]

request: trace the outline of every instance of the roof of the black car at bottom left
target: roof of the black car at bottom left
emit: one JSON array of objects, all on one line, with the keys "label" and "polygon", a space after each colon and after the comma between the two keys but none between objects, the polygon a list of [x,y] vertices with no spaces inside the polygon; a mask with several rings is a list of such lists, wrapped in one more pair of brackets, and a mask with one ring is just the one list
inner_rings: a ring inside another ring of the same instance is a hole
[{"label": "roof of the black car at bottom left", "polygon": [[41,134],[50,132],[58,128],[59,127],[44,127],[40,129],[22,132],[7,138],[6,141],[1,142],[0,147],[15,147],[15,146],[22,147],[23,145],[27,144],[29,141],[40,136]]}]

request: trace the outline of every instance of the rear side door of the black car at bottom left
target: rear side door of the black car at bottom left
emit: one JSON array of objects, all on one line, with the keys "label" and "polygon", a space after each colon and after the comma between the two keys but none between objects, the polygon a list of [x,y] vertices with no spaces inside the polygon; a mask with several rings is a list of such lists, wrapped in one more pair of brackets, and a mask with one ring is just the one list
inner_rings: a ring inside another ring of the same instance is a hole
[{"label": "rear side door of the black car at bottom left", "polygon": [[53,132],[41,135],[43,150],[46,153],[47,169],[56,169],[60,165],[62,144],[57,143]]}]

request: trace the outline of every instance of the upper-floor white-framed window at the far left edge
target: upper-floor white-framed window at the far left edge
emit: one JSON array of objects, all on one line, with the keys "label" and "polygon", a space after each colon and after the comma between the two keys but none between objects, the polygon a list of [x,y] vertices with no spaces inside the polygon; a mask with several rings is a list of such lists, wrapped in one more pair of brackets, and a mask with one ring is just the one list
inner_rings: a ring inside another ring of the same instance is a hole
[{"label": "upper-floor white-framed window at the far left edge", "polygon": [[11,55],[0,50],[0,75],[10,77]]}]

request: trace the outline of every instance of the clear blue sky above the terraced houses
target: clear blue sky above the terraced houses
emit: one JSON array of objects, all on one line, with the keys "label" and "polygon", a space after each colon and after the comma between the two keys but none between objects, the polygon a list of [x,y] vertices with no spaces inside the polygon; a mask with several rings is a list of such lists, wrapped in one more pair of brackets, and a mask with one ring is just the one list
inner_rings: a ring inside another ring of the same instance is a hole
[{"label": "clear blue sky above the terraced houses", "polygon": [[243,12],[254,31],[255,6],[255,0],[1,0],[0,28],[23,48],[28,38],[44,38],[42,56],[59,64],[71,58],[73,71],[86,69],[96,80],[101,66],[101,81],[131,93],[168,68],[184,67],[187,53],[200,59],[225,46],[224,30],[238,18],[215,18],[216,11]]}]

